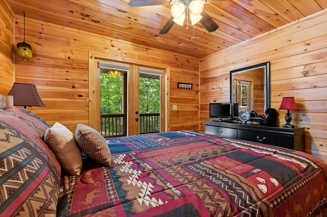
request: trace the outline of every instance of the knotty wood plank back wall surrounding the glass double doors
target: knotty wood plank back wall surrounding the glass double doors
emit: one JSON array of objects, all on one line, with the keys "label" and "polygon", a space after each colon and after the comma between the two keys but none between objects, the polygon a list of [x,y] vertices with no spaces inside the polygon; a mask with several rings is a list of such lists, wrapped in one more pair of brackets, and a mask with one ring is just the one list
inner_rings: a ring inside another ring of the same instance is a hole
[{"label": "knotty wood plank back wall surrounding the glass double doors", "polygon": [[[1,10],[3,14],[7,9]],[[15,43],[24,39],[23,16],[16,15],[15,34]],[[103,59],[170,66],[168,131],[199,130],[199,59],[31,18],[26,18],[26,42],[33,48],[33,58],[15,57],[15,80],[36,85],[46,107],[29,109],[51,125],[60,122],[74,132],[77,123],[89,123],[88,64],[89,52],[94,52]],[[193,90],[177,89],[178,82],[192,83]],[[12,82],[6,85],[11,87]],[[176,111],[172,104],[177,104]]]}]

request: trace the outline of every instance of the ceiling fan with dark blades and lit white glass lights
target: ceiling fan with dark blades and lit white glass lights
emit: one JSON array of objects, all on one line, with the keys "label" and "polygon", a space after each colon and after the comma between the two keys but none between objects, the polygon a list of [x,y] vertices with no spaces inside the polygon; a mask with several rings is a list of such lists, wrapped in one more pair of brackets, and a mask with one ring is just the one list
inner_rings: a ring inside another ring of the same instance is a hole
[{"label": "ceiling fan with dark blades and lit white glass lights", "polygon": [[191,18],[192,25],[200,22],[203,27],[209,32],[216,31],[218,24],[203,11],[203,4],[219,2],[224,0],[132,0],[128,3],[131,7],[153,6],[153,5],[166,5],[167,2],[172,6],[172,16],[160,30],[160,34],[166,34],[173,27],[175,23],[179,25],[184,24],[184,19],[188,16]]}]

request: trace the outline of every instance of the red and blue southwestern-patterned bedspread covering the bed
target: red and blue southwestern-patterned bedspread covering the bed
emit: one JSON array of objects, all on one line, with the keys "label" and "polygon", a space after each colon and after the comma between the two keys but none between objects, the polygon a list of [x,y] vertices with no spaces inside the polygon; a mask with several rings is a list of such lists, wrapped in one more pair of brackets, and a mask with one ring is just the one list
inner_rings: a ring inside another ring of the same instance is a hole
[{"label": "red and blue southwestern-patterned bedspread covering the bed", "polygon": [[300,151],[195,131],[107,142],[112,166],[85,159],[58,215],[311,216],[327,202],[327,166]]}]

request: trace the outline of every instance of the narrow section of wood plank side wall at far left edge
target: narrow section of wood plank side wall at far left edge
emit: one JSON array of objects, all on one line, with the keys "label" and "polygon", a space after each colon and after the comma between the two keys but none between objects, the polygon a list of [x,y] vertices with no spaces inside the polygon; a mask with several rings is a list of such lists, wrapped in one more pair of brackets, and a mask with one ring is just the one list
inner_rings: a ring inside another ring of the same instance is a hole
[{"label": "narrow section of wood plank side wall at far left edge", "polygon": [[0,1],[0,11],[0,94],[6,95],[14,80],[14,13],[6,1]]}]

